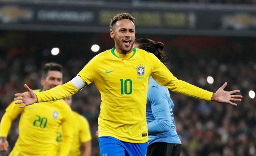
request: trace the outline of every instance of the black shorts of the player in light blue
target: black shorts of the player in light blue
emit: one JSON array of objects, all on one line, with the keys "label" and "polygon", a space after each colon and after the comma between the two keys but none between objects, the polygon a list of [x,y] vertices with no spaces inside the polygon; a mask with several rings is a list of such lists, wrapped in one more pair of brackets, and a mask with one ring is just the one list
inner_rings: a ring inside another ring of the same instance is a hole
[{"label": "black shorts of the player in light blue", "polygon": [[156,142],[147,146],[147,156],[180,156],[181,144]]}]

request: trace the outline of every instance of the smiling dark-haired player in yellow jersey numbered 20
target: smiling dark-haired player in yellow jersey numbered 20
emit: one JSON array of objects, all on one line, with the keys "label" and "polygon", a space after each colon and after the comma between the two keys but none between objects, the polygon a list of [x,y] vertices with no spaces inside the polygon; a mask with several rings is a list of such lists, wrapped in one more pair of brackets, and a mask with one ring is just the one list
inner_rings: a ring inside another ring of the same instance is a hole
[{"label": "smiling dark-haired player in yellow jersey numbered 20", "polygon": [[[62,84],[62,66],[47,63],[42,72],[42,89],[40,93]],[[13,101],[7,108],[0,123],[0,150],[6,151],[6,137],[11,122],[18,116],[19,137],[9,156],[55,156],[57,152],[57,130],[62,125],[63,143],[59,156],[66,156],[73,138],[73,116],[64,100],[35,103],[29,107],[19,108]]]}]

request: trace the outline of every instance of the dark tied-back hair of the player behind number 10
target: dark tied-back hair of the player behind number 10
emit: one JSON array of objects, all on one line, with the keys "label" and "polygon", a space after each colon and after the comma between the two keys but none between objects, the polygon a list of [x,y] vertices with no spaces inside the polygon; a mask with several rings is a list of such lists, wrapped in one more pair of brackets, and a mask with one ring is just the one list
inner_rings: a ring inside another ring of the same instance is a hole
[{"label": "dark tied-back hair of the player behind number 10", "polygon": [[167,58],[164,49],[164,43],[162,42],[155,42],[151,39],[137,39],[135,43],[138,44],[138,48],[143,49],[149,53],[153,53],[157,58],[164,62]]}]

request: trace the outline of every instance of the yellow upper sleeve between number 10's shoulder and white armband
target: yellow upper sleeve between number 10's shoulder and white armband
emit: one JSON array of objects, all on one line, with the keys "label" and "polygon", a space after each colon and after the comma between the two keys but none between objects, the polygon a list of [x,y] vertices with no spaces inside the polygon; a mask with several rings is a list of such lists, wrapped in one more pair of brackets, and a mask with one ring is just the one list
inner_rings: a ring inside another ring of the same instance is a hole
[{"label": "yellow upper sleeve between number 10's shoulder and white armband", "polygon": [[99,55],[92,58],[91,61],[89,61],[86,66],[78,73],[78,76],[80,76],[86,84],[91,84],[92,81],[95,78],[95,74],[97,73],[97,67],[99,64]]}]

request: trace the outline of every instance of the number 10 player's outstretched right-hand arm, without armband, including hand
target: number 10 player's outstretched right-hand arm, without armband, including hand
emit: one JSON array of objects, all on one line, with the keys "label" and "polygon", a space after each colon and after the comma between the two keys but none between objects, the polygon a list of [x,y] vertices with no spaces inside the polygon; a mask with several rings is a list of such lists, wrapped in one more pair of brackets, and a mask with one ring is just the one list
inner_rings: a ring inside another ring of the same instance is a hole
[{"label": "number 10 player's outstretched right-hand arm, without armband, including hand", "polygon": [[212,93],[202,88],[191,85],[185,81],[178,80],[173,74],[162,64],[154,55],[151,55],[152,62],[152,72],[151,76],[156,80],[160,85],[164,85],[169,90],[181,95],[189,96],[192,98],[197,98],[200,100],[206,101],[217,101],[220,103],[229,103],[230,105],[236,105],[231,101],[241,101],[241,95],[232,95],[233,93],[240,92],[239,90],[233,90],[230,92],[224,91],[224,88],[227,84],[224,84],[222,87],[217,90],[217,92]]}]

